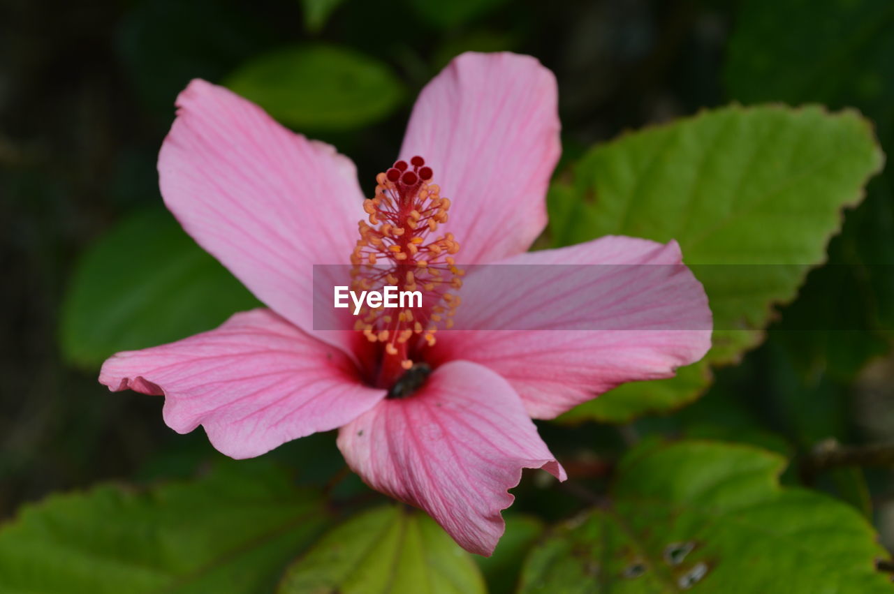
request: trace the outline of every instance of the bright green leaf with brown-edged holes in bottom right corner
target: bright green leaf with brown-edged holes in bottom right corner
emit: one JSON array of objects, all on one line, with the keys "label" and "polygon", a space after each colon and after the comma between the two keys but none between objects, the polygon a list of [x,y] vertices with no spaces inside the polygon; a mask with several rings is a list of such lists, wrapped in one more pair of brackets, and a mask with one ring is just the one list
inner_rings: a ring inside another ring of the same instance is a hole
[{"label": "bright green leaf with brown-edged holes in bottom right corner", "polygon": [[535,548],[520,591],[890,592],[872,526],[832,498],[781,488],[784,466],[720,442],[634,450],[611,504]]}]

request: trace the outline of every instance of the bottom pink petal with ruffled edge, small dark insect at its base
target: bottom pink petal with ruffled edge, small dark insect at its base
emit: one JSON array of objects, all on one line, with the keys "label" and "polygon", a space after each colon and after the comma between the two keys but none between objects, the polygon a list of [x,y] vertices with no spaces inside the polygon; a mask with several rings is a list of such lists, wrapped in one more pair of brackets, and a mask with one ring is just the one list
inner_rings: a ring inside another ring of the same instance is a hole
[{"label": "bottom pink petal with ruffled edge, small dark insect at its base", "polygon": [[338,446],[373,489],[421,507],[460,546],[485,556],[505,530],[500,511],[512,504],[507,489],[522,468],[565,480],[510,385],[461,361],[342,427]]}]

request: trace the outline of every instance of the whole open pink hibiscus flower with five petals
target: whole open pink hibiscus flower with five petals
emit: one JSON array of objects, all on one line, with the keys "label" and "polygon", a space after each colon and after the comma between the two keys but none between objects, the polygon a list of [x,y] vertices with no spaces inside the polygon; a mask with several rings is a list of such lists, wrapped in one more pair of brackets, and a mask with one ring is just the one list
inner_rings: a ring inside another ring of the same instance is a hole
[{"label": "whole open pink hibiscus flower with five petals", "polygon": [[[194,80],[158,159],[164,203],[270,309],[119,353],[99,381],[164,395],[168,426],[202,425],[234,458],[339,428],[342,454],[368,485],[422,507],[463,548],[490,555],[521,470],[565,480],[531,418],[551,419],[626,381],[670,377],[710,346],[707,299],[676,242],[605,237],[526,253],[544,230],[560,154],[556,94],[534,58],[461,55],[422,91],[403,161],[379,174],[377,197],[365,203],[353,164],[332,146]],[[519,307],[506,292],[483,290],[486,275],[469,275],[455,319],[487,315],[489,328],[509,330],[434,337],[416,321],[375,315],[359,330],[314,329],[312,264],[375,261],[417,282],[400,266],[420,271],[427,259],[450,268],[458,251],[463,264],[669,264],[660,268],[672,273],[645,290],[611,278],[602,290],[581,288],[622,331],[511,330],[554,303],[531,290],[533,301]],[[690,330],[656,328],[665,320]]]}]

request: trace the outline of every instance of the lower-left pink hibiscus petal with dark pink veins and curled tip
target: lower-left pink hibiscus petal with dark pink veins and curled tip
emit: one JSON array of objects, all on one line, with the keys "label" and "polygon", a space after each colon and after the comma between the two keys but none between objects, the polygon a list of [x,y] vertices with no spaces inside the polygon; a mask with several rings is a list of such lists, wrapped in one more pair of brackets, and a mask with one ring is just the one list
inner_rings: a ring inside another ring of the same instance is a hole
[{"label": "lower-left pink hibiscus petal with dark pink veins and curled tip", "polygon": [[99,382],[164,395],[164,422],[199,424],[233,458],[260,456],[356,418],[384,397],[363,385],[348,356],[266,309],[161,347],[118,353]]}]

